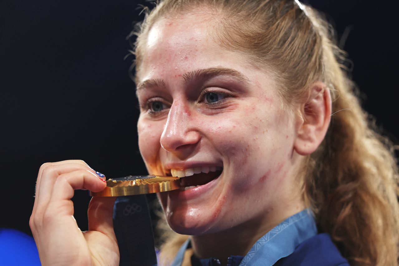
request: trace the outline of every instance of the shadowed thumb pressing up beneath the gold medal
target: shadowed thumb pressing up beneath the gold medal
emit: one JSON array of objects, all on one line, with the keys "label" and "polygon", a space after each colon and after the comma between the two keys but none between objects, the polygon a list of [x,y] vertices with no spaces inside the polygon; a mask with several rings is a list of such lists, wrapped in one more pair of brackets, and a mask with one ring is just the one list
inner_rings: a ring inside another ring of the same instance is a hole
[{"label": "shadowed thumb pressing up beneath the gold medal", "polygon": [[117,197],[93,197],[87,209],[89,231],[98,231],[117,241],[113,227],[113,210]]}]

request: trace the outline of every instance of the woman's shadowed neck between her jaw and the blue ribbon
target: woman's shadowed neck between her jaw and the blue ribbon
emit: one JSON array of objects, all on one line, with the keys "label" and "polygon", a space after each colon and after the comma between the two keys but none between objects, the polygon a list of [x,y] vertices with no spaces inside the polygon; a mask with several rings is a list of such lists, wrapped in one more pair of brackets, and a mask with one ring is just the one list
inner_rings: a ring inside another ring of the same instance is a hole
[{"label": "woman's shadowed neck between her jaw and the blue ribbon", "polygon": [[227,265],[229,256],[245,256],[259,238],[289,216],[304,210],[305,206],[302,201],[297,201],[290,208],[285,208],[284,213],[277,212],[277,209],[281,210],[273,208],[252,220],[221,232],[192,236],[194,254],[198,258],[217,258],[222,265]]}]

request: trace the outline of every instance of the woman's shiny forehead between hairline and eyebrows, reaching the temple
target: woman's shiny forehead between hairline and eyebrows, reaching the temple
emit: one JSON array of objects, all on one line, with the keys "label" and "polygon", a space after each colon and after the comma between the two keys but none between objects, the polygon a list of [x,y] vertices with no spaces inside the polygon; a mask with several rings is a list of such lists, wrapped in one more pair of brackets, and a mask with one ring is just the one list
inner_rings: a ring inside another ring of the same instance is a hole
[{"label": "woman's shiny forehead between hairline and eyebrows, reaching the temple", "polygon": [[218,20],[211,11],[158,19],[141,40],[136,85],[156,79],[177,87],[187,73],[224,68],[243,74],[259,93],[265,89],[277,93],[277,79],[267,65],[259,66],[244,52],[228,50],[217,43]]}]

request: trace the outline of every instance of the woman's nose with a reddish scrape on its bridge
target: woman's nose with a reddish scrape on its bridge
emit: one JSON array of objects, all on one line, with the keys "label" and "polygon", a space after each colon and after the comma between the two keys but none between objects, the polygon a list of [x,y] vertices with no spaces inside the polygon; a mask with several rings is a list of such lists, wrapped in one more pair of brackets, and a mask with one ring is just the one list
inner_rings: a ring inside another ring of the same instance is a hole
[{"label": "woman's nose with a reddish scrape on its bridge", "polygon": [[190,106],[184,101],[173,101],[162,131],[161,146],[173,153],[188,151],[193,149],[200,139],[201,135],[196,129]]}]

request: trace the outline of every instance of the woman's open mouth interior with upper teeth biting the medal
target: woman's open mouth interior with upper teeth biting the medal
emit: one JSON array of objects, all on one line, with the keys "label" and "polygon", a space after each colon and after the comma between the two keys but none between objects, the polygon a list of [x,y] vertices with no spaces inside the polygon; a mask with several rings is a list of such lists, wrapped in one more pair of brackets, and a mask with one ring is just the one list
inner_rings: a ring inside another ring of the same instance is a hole
[{"label": "woman's open mouth interior with upper teeth biting the medal", "polygon": [[[180,177],[180,190],[188,190],[205,185],[212,180],[217,179],[221,175],[222,171],[222,167],[198,167],[195,171],[194,169],[186,169],[184,171],[172,169],[171,173],[172,176]],[[185,173],[184,176],[182,176],[182,172]]]}]

